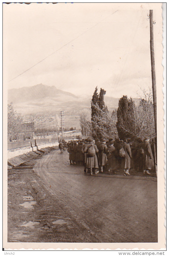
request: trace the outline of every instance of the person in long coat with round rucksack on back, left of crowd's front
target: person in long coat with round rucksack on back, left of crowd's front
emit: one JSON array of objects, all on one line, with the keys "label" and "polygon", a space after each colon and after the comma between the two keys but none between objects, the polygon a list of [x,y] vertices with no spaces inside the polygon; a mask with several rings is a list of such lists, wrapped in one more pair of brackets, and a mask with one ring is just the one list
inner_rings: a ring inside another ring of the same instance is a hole
[{"label": "person in long coat with round rucksack on back, left of crowd's front", "polygon": [[98,148],[95,145],[95,140],[92,138],[88,140],[89,145],[85,148],[84,153],[87,153],[86,159],[86,169],[90,170],[90,174],[93,174],[92,169],[95,171],[95,174],[99,173],[97,170],[99,168],[96,153],[98,153]]}]

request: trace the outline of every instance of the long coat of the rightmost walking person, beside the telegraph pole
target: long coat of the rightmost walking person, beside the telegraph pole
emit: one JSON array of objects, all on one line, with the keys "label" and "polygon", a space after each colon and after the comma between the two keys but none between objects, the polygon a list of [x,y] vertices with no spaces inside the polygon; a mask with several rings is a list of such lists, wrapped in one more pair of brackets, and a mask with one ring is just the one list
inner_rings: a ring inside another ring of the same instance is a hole
[{"label": "long coat of the rightmost walking person, beside the telegraph pole", "polygon": [[153,170],[154,169],[154,159],[153,159],[153,154],[152,154],[150,143],[144,142],[143,149],[144,149],[143,169],[144,170]]}]

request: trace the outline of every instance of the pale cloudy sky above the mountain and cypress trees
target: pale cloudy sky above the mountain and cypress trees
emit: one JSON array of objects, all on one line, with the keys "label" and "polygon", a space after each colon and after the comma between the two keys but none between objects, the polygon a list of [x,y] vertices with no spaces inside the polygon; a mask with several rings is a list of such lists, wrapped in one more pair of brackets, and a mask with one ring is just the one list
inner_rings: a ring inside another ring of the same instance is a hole
[{"label": "pale cloudy sky above the mountain and cypress trees", "polygon": [[42,83],[75,95],[92,95],[97,86],[107,96],[138,97],[152,85],[149,9],[126,7],[5,4],[5,86]]}]

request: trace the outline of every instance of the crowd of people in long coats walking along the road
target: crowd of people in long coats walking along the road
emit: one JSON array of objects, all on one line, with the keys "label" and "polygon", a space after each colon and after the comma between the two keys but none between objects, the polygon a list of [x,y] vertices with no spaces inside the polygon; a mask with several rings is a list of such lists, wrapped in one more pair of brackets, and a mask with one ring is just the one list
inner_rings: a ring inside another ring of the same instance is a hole
[{"label": "crowd of people in long coats walking along the road", "polygon": [[131,141],[105,138],[69,141],[67,143],[70,165],[84,165],[84,172],[97,174],[99,172],[113,172],[123,170],[124,175],[130,175],[129,171],[134,168],[137,172],[151,175],[154,170],[153,147],[150,138],[144,141],[140,138]]}]

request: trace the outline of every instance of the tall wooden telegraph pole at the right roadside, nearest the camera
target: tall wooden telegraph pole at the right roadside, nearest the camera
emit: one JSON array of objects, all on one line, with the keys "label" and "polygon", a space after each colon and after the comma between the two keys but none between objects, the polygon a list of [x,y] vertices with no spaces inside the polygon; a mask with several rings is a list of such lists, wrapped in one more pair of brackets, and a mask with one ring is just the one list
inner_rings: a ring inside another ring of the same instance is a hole
[{"label": "tall wooden telegraph pole at the right roadside, nearest the camera", "polygon": [[[156,95],[156,78],[155,78],[155,58],[154,58],[154,38],[153,38],[153,10],[150,10],[150,54],[151,54],[151,74],[152,74],[152,89],[153,89],[153,103],[154,103],[154,121],[155,133],[157,138],[157,95]],[[155,154],[155,169],[157,176],[157,147],[155,146],[155,139],[153,138],[154,154]]]}]

